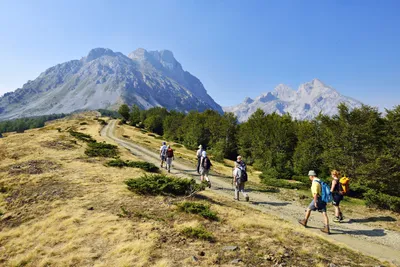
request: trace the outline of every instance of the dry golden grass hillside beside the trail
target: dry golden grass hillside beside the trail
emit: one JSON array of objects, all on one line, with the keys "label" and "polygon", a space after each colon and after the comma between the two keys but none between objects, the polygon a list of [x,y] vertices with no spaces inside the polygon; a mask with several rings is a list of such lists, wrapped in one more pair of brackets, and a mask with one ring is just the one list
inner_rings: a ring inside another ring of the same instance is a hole
[{"label": "dry golden grass hillside beside the trail", "polygon": [[[87,143],[68,132],[102,142],[100,127],[93,116],[78,115],[0,139],[0,266],[384,264],[212,191],[187,200],[209,206],[218,220],[182,211],[180,198],[137,195],[124,182],[145,171],[107,167],[110,158],[88,157]],[[128,126],[118,131],[154,149],[160,142]],[[194,161],[192,152],[177,150]],[[230,167],[217,169],[229,175]],[[226,250],[232,245],[238,249]]]}]

